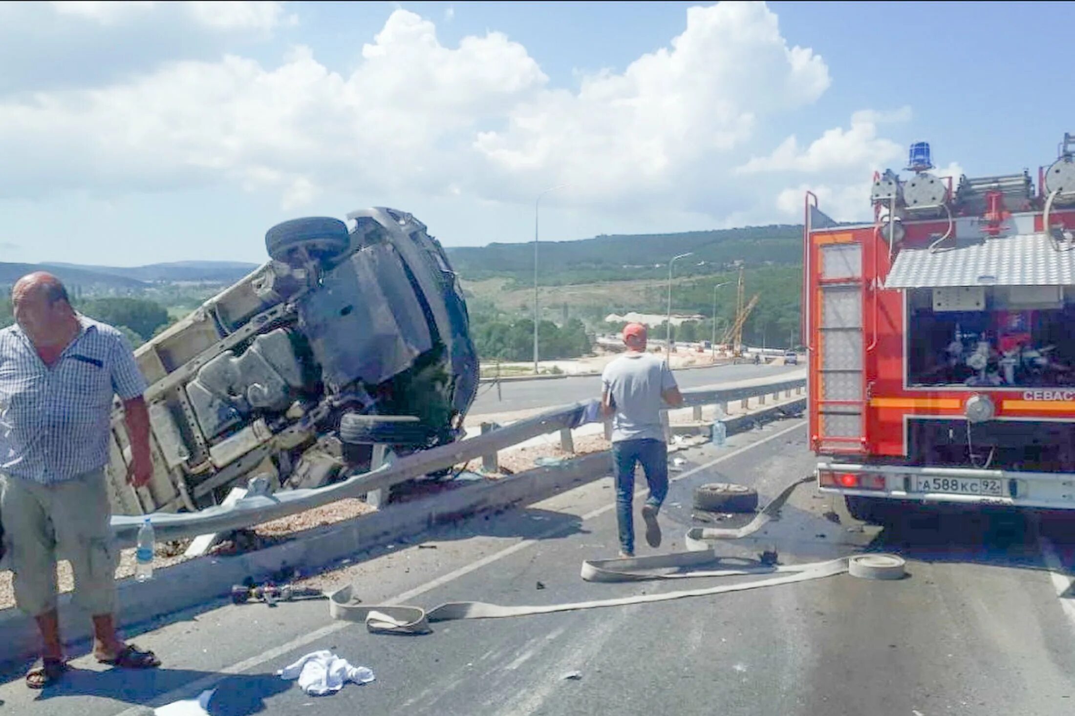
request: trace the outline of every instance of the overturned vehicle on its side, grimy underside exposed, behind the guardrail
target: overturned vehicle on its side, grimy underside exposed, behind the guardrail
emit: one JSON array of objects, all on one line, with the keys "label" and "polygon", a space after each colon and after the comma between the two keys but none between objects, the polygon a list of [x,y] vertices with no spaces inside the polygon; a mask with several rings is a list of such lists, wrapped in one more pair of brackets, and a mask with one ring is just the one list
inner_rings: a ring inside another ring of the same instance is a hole
[{"label": "overturned vehicle on its side, grimy underside exposed, behind the guardrail", "polygon": [[135,351],[154,474],[127,483],[113,412],[116,514],[198,510],[264,476],[317,487],[462,437],[478,363],[459,281],[410,214],[286,221],[271,261]]}]

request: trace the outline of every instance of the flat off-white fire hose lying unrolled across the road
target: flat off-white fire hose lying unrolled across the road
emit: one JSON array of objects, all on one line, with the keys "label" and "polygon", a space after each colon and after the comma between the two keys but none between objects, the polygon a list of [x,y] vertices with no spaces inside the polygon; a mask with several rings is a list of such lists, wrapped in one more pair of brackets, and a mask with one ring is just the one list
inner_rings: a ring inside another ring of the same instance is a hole
[{"label": "flat off-white fire hose lying unrolled across the road", "polygon": [[[890,554],[862,554],[828,561],[815,561],[805,565],[743,566],[727,569],[683,571],[702,565],[720,562],[716,554],[714,540],[741,539],[758,531],[771,520],[774,520],[780,507],[788,500],[794,489],[814,478],[804,478],[789,485],[784,492],[758,513],[749,524],[737,529],[721,529],[713,527],[693,527],[687,531],[687,552],[653,555],[646,557],[630,557],[618,559],[590,559],[583,562],[582,576],[587,582],[642,582],[650,580],[682,580],[703,576],[745,576],[758,574],[774,574],[765,580],[739,582],[716,587],[699,589],[683,589],[653,595],[635,595],[616,599],[570,602],[564,604],[544,604],[538,607],[504,607],[481,601],[447,602],[428,612],[420,607],[405,604],[362,604],[355,597],[353,585],[344,586],[329,597],[329,611],[333,618],[348,622],[361,622],[373,633],[425,634],[432,631],[430,624],[454,619],[489,619],[507,616],[527,616],[531,614],[550,614],[554,612],[571,612],[583,609],[599,609],[601,607],[625,607],[627,604],[644,604],[656,601],[670,601],[686,597],[704,597],[708,595],[744,591],[761,587],[794,584],[809,580],[819,580],[845,572],[852,576],[871,580],[899,580],[904,576],[905,562],[902,557]],[[664,571],[660,571],[664,570]],[[677,570],[677,571],[671,571]]]}]

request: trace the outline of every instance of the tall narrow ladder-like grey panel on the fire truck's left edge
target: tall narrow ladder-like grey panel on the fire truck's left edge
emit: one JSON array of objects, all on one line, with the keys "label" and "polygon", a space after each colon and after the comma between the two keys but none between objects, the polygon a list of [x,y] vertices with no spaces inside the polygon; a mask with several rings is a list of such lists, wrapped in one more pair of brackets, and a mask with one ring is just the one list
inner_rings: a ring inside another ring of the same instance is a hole
[{"label": "tall narrow ladder-like grey panel on the fire truck's left edge", "polygon": [[[812,240],[808,216],[806,232]],[[807,261],[812,248],[807,245]],[[806,266],[818,275],[817,291],[808,296],[807,305],[818,326],[817,345],[809,347],[818,366],[818,384],[812,386],[818,413],[815,449],[828,454],[861,453],[865,449],[862,245],[834,243],[817,248],[820,265]],[[818,305],[813,306],[814,301]]]}]

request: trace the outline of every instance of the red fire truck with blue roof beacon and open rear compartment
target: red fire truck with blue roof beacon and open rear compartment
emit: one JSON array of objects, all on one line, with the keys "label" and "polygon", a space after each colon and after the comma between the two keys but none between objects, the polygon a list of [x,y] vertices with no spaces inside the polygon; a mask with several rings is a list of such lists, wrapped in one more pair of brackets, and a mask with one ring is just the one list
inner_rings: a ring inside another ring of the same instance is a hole
[{"label": "red fire truck with blue roof beacon and open rear compartment", "polygon": [[823,493],[1075,509],[1075,135],[1037,172],[874,176],[872,223],[807,192],[803,326]]}]

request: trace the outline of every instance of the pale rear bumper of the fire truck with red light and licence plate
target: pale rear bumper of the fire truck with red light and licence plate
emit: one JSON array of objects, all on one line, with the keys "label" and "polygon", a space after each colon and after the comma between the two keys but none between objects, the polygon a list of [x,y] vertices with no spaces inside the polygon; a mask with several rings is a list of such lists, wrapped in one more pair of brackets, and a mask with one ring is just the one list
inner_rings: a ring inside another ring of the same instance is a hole
[{"label": "pale rear bumper of the fire truck with red light and licence plate", "polygon": [[1075,510],[1075,473],[857,465],[822,461],[822,493],[919,502]]}]

